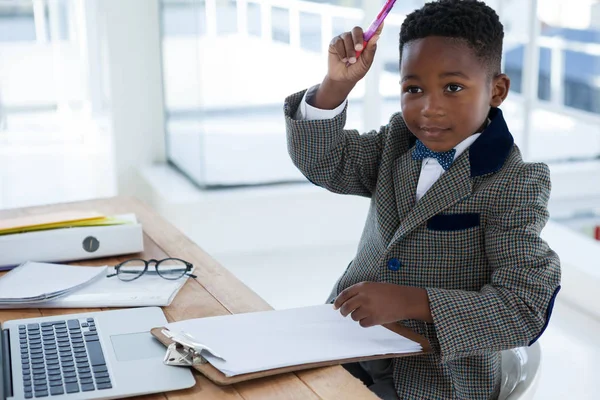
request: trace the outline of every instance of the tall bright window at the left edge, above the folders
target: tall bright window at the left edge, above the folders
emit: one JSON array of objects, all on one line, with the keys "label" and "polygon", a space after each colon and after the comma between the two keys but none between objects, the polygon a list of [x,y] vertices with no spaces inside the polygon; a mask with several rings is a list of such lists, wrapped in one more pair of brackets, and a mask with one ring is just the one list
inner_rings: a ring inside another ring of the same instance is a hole
[{"label": "tall bright window at the left edge, above the folders", "polygon": [[95,4],[0,1],[0,208],[113,194]]}]

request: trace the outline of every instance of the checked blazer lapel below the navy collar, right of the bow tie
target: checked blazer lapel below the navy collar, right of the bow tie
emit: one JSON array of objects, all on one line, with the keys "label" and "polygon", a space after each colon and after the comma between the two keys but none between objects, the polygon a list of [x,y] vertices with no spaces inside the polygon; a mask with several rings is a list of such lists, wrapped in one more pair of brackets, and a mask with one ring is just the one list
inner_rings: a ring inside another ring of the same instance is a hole
[{"label": "checked blazer lapel below the navy collar, right of the bow tie", "polygon": [[[417,179],[418,177],[419,174],[416,175]],[[414,187],[411,185],[412,192],[410,195],[413,199],[415,198],[416,187],[416,184]],[[464,152],[454,161],[450,169],[443,173],[425,195],[423,195],[410,212],[400,214],[401,216],[406,215],[406,217],[401,219],[400,227],[392,238],[390,246],[396,240],[400,239],[400,237],[405,236],[429,218],[469,196],[472,189],[473,184],[470,177],[468,152]]]}]

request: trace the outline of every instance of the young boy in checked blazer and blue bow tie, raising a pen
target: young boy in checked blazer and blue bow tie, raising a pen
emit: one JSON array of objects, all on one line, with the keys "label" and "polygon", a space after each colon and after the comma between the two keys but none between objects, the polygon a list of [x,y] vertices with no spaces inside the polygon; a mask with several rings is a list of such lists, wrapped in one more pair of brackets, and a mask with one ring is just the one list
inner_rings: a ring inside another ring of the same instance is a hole
[{"label": "young boy in checked blazer and blue bow tie, raising a pen", "polygon": [[[335,38],[319,86],[286,99],[295,165],[332,192],[371,198],[354,260],[330,302],[362,326],[398,322],[432,353],[347,367],[383,398],[492,399],[500,351],[532,344],[560,289],[540,238],[548,167],[525,163],[502,112],[503,27],[475,0],[440,0],[400,31],[402,113],[379,131],[344,130],[346,98],[376,35]],[[348,64],[348,65],[347,65]]]}]

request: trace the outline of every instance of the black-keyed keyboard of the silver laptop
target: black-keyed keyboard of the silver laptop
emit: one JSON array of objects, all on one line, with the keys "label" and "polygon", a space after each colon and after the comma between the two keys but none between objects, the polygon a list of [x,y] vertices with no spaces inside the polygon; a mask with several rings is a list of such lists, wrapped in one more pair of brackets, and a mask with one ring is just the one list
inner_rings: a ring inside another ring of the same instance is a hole
[{"label": "black-keyed keyboard of the silver laptop", "polygon": [[25,398],[112,388],[93,318],[19,325]]}]

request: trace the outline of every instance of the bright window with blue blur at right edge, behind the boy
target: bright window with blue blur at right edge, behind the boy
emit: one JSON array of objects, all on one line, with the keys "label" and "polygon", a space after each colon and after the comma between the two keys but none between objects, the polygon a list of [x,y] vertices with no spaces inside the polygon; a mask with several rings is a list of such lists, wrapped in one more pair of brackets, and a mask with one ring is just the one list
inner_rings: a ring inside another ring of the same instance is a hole
[{"label": "bright window with blue blur at right edge, behind the boy", "polygon": [[[540,0],[537,97],[526,147],[532,160],[548,163],[600,157],[599,4]],[[596,20],[594,20],[596,18]],[[533,76],[524,71],[523,76]]]}]

